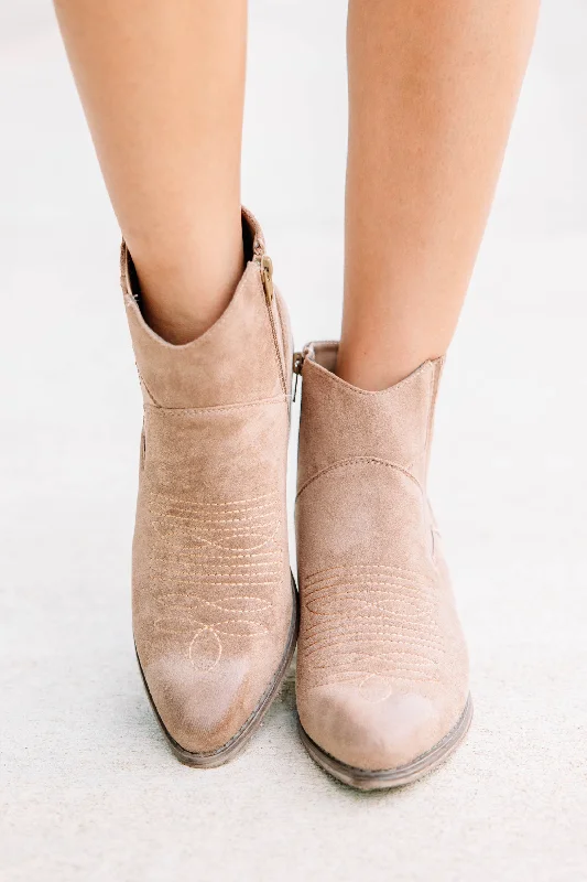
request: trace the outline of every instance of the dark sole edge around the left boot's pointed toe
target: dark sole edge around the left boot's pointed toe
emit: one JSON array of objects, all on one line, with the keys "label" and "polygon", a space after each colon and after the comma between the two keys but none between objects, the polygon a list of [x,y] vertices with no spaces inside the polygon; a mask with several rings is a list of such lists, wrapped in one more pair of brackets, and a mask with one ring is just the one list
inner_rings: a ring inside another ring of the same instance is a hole
[{"label": "dark sole edge around the left boot's pointed toe", "polygon": [[215,768],[219,765],[224,765],[225,763],[230,762],[230,760],[233,760],[236,756],[238,756],[239,753],[241,753],[244,750],[251,736],[254,734],[257,729],[259,729],[263,720],[263,717],[271,707],[273,700],[276,698],[280,687],[283,680],[285,679],[285,675],[287,674],[287,669],[293,658],[295,644],[297,641],[297,631],[300,626],[300,604],[298,604],[297,589],[295,587],[293,574],[292,574],[292,598],[293,598],[293,610],[292,610],[292,621],[290,623],[290,632],[287,634],[287,644],[285,647],[285,653],[281,659],[280,666],[278,668],[274,678],[272,679],[269,688],[267,689],[265,693],[263,695],[263,698],[261,699],[254,711],[251,713],[251,716],[248,718],[244,724],[239,729],[236,735],[233,735],[230,739],[230,741],[228,741],[221,747],[218,747],[218,750],[216,751],[210,751],[209,753],[192,753],[191,751],[186,751],[170,734],[170,732],[165,727],[165,723],[163,722],[163,720],[159,714],[159,711],[155,707],[155,702],[151,697],[151,692],[149,691],[149,686],[146,685],[146,679],[141,666],[141,659],[139,658],[139,653],[137,652],[137,645],[134,645],[134,652],[137,653],[137,662],[139,664],[139,670],[141,671],[143,686],[146,696],[149,698],[149,702],[153,709],[153,713],[156,717],[156,720],[170,744],[170,747],[172,749],[177,760],[184,763],[184,765],[189,765],[193,768]]}]

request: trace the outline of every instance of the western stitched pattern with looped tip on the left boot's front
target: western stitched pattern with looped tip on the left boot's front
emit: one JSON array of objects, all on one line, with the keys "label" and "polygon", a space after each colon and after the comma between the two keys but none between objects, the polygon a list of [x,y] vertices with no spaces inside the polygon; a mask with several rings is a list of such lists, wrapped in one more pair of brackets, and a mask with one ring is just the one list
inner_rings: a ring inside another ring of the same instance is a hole
[{"label": "western stitched pattern with looped tip on the left boot's front", "polygon": [[183,636],[192,665],[211,670],[225,639],[269,633],[282,579],[279,496],[187,502],[153,493],[150,513],[154,628]]}]

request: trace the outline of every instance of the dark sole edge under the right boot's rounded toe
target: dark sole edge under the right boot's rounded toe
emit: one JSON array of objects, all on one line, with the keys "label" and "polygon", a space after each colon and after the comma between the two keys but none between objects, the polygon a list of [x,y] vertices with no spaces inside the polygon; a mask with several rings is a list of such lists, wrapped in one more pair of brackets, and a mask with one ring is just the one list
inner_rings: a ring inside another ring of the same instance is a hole
[{"label": "dark sole edge under the right boot's rounded toe", "polygon": [[464,741],[465,735],[469,731],[471,720],[472,700],[469,695],[459,721],[442,741],[412,763],[398,766],[396,768],[382,770],[380,772],[356,768],[355,766],[341,763],[339,760],[335,760],[334,756],[330,756],[330,754],[323,751],[322,747],[318,747],[316,742],[309,738],[304,731],[300,719],[297,720],[297,725],[304,747],[320,768],[337,778],[337,781],[343,782],[343,784],[355,787],[355,789],[382,790],[393,787],[404,787],[406,784],[412,784],[414,781],[418,781],[418,778],[427,775],[436,768],[436,766],[441,765],[441,763],[444,763]]}]

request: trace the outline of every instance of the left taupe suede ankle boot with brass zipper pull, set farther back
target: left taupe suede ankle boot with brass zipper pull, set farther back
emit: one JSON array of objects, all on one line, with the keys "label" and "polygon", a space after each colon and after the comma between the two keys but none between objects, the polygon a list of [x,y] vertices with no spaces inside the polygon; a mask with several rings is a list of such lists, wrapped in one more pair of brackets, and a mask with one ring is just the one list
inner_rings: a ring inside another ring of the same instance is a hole
[{"label": "left taupe suede ankle boot with brass zipper pull, set farther back", "polygon": [[285,513],[290,330],[248,213],[243,235],[249,261],[230,304],[181,346],[145,324],[122,247],[144,399],[134,641],[163,731],[195,766],[220,765],[244,745],[297,630]]}]

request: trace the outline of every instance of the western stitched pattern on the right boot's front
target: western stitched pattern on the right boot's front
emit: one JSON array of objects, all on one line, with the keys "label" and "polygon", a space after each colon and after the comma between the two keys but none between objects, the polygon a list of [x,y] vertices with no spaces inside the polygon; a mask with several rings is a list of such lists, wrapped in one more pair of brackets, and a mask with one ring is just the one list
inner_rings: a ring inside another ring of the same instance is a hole
[{"label": "western stitched pattern on the right boot's front", "polygon": [[434,591],[423,574],[383,563],[309,574],[301,645],[308,686],[356,681],[370,700],[384,700],[388,678],[438,681],[445,650]]}]

